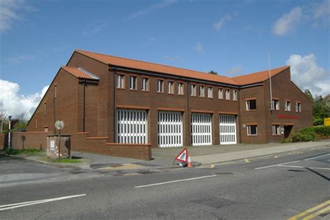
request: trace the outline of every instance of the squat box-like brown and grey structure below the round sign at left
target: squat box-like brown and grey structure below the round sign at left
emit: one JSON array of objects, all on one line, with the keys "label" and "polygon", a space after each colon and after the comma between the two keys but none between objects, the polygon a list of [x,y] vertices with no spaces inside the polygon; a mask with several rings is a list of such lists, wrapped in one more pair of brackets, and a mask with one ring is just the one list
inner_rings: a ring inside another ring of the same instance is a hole
[{"label": "squat box-like brown and grey structure below the round sign at left", "polygon": [[[57,159],[70,157],[71,149],[71,135],[61,134],[61,138],[58,134],[47,135],[47,157]],[[59,154],[59,156],[58,156]]]}]

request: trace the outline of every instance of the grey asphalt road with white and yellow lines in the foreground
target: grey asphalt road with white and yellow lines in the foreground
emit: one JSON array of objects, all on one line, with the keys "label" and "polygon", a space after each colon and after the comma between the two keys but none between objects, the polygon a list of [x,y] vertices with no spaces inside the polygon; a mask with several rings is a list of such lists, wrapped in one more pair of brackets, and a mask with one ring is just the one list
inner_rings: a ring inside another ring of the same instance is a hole
[{"label": "grey asphalt road with white and yellow lines in the foreground", "polygon": [[0,182],[0,219],[330,219],[330,148],[126,175],[0,161],[45,174]]}]

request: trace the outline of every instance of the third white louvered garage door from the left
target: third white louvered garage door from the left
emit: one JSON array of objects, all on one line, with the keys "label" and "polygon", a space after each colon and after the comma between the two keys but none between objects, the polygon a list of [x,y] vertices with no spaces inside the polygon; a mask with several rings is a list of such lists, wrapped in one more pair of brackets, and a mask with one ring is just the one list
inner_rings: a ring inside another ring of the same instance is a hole
[{"label": "third white louvered garage door from the left", "polygon": [[191,114],[191,139],[193,146],[212,145],[212,115],[210,113]]}]

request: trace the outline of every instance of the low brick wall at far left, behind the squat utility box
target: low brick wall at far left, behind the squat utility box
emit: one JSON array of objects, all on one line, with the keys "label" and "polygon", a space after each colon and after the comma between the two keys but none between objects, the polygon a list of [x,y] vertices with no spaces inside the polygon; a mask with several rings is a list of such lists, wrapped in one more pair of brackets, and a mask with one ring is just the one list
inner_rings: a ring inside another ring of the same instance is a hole
[{"label": "low brick wall at far left, behind the squat utility box", "polygon": [[47,148],[47,134],[51,132],[13,132],[11,146],[13,149]]}]

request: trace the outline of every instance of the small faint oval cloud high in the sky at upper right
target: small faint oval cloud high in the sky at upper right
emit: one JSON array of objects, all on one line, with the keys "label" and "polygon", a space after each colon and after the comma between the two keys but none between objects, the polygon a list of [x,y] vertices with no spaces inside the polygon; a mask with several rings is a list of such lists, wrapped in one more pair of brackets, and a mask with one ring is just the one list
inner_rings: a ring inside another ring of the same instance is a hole
[{"label": "small faint oval cloud high in the sky at upper right", "polygon": [[277,36],[284,36],[294,29],[294,26],[301,20],[301,8],[295,7],[290,13],[282,15],[273,25],[273,33]]}]

